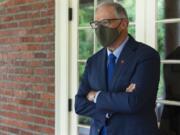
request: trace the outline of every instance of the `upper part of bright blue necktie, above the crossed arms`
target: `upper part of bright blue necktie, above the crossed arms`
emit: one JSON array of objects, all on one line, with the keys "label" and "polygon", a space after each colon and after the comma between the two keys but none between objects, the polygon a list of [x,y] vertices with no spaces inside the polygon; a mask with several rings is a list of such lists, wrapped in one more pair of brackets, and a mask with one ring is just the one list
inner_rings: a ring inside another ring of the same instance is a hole
[{"label": "upper part of bright blue necktie, above the crossed arms", "polygon": [[112,78],[113,78],[113,72],[114,72],[114,68],[115,68],[115,64],[116,64],[116,56],[114,56],[113,53],[111,53],[108,56],[108,89],[110,88],[110,84],[112,82]]}]

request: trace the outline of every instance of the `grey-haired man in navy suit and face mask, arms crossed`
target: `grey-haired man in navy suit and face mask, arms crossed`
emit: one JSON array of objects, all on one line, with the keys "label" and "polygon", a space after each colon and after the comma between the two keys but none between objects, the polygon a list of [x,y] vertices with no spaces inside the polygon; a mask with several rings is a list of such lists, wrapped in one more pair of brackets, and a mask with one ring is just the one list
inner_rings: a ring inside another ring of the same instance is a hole
[{"label": "grey-haired man in navy suit and face mask, arms crossed", "polygon": [[76,113],[92,118],[90,135],[157,135],[158,53],[128,35],[117,3],[100,4],[90,24],[103,49],[87,60]]}]

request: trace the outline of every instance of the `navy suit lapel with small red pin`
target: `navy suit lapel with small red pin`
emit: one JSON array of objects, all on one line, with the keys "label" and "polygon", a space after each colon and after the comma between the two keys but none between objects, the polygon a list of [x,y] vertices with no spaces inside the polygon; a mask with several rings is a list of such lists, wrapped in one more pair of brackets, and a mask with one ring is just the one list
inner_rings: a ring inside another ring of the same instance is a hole
[{"label": "navy suit lapel with small red pin", "polygon": [[119,79],[121,76],[121,73],[123,73],[124,69],[126,69],[128,67],[128,62],[130,60],[128,60],[132,54],[134,53],[134,49],[136,48],[136,45],[134,45],[134,39],[132,37],[129,37],[128,42],[125,44],[119,59],[117,61],[116,67],[115,67],[115,71],[113,73],[113,79],[112,79],[112,83],[110,86],[110,90],[113,90],[114,87],[114,83],[117,79]]}]

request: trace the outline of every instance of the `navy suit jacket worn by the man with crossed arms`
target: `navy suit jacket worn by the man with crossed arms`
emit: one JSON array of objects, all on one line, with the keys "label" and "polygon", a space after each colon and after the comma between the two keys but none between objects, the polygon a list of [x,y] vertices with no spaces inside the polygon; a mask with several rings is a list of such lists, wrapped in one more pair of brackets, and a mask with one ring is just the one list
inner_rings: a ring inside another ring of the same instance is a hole
[{"label": "navy suit jacket worn by the man with crossed arms", "polygon": [[[92,118],[90,135],[98,135],[103,126],[107,135],[157,135],[155,101],[160,74],[159,54],[135,41],[130,35],[115,67],[107,89],[107,50],[103,48],[87,61],[82,82],[75,97],[75,111]],[[125,89],[136,84],[133,92]],[[86,99],[90,90],[101,91],[97,102]],[[106,113],[112,114],[106,119]]]}]

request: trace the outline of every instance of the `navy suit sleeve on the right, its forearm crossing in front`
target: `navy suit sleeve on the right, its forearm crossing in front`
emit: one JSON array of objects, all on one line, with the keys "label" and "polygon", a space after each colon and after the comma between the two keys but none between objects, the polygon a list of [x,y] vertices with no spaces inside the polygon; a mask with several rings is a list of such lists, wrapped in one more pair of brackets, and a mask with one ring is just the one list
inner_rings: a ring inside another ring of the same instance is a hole
[{"label": "navy suit sleeve on the right, its forearm crossing in front", "polygon": [[147,105],[154,105],[159,83],[160,58],[157,53],[138,62],[130,83],[135,83],[133,92],[101,92],[96,106],[99,109],[118,113],[136,113]]}]

